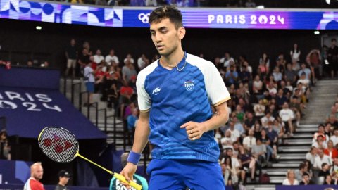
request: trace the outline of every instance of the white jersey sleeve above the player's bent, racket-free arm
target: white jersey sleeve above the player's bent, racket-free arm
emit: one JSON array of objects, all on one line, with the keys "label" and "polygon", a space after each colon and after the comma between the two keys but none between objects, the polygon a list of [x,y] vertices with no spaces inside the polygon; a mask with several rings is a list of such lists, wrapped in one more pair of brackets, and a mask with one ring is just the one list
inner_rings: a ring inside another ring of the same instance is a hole
[{"label": "white jersey sleeve above the player's bent, racket-free arm", "polygon": [[211,62],[208,64],[204,78],[206,82],[206,91],[213,106],[218,106],[230,99],[229,91],[227,91],[227,87],[225,87],[220,72],[218,72],[215,65]]}]

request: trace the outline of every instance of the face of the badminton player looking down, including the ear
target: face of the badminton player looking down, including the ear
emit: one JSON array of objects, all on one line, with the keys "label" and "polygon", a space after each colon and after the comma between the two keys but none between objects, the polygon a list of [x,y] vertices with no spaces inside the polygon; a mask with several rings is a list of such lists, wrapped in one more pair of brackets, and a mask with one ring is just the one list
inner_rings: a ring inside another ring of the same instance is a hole
[{"label": "face of the badminton player looking down, including the ear", "polygon": [[160,23],[151,23],[150,33],[158,53],[161,56],[170,56],[180,49],[185,30],[184,27],[176,29],[169,18],[163,18]]}]

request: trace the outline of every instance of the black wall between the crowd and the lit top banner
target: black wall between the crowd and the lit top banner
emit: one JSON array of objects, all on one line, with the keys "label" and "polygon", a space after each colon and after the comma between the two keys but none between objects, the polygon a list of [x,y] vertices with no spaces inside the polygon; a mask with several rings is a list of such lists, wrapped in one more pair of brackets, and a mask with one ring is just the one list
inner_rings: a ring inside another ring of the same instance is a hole
[{"label": "black wall between the crowd and the lit top banner", "polygon": [[[65,68],[65,46],[70,38],[77,40],[77,46],[87,40],[93,50],[101,49],[104,55],[115,49],[120,61],[127,53],[138,58],[145,53],[153,57],[156,49],[151,42],[147,28],[106,28],[83,25],[36,23],[32,21],[0,19],[0,58],[13,64],[24,65],[28,59],[50,61],[56,68]],[[36,30],[37,25],[42,30]],[[322,32],[323,33],[323,32]],[[302,57],[314,48],[320,48],[320,35],[313,30],[222,30],[187,29],[183,49],[189,53],[204,53],[206,59],[223,56],[230,51],[234,58],[246,55],[251,65],[256,65],[263,52],[271,60],[282,52],[289,58],[293,44],[299,44]]]}]

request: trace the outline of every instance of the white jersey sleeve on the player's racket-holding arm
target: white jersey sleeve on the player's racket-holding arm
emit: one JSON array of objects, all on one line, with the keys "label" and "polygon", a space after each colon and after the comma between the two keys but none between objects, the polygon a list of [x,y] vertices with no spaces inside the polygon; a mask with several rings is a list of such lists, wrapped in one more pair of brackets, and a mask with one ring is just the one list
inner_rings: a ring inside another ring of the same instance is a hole
[{"label": "white jersey sleeve on the player's racket-holding arm", "polygon": [[140,72],[137,76],[136,87],[137,87],[137,99],[139,103],[139,110],[141,112],[148,112],[151,107],[151,99],[149,94],[146,92],[144,88],[144,83],[146,80],[146,76],[142,75],[143,73]]}]

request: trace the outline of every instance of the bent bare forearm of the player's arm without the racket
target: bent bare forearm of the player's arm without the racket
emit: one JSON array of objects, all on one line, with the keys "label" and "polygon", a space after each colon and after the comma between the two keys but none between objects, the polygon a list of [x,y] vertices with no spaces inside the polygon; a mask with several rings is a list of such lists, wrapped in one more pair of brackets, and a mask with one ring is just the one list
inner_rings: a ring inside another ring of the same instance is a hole
[{"label": "bent bare forearm of the player's arm without the racket", "polygon": [[218,129],[221,125],[224,125],[229,119],[229,111],[227,110],[227,103],[222,103],[217,106],[213,117],[209,120],[203,122],[205,131],[211,131],[214,129]]}]

